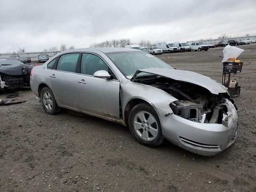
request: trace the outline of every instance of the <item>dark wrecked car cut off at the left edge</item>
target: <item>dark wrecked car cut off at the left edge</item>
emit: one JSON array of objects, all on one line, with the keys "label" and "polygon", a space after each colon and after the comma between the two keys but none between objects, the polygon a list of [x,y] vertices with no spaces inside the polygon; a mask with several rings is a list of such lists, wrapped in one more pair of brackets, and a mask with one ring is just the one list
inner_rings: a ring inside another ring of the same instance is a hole
[{"label": "dark wrecked car cut off at the left edge", "polygon": [[32,65],[12,57],[0,57],[0,90],[29,86]]}]

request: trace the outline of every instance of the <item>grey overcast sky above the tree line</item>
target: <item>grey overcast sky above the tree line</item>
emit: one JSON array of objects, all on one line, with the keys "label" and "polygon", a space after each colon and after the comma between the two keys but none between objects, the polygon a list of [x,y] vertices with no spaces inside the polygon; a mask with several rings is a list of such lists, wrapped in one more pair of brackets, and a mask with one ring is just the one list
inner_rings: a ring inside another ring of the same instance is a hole
[{"label": "grey overcast sky above the tree line", "polygon": [[0,0],[0,52],[256,35],[256,0]]}]

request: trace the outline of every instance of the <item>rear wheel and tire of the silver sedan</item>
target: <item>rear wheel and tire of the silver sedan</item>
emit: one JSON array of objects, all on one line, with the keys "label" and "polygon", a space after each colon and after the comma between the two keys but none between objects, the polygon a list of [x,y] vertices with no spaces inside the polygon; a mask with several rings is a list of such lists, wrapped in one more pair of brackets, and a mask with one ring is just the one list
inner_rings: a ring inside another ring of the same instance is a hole
[{"label": "rear wheel and tire of the silver sedan", "polygon": [[60,112],[60,108],[56,103],[56,100],[50,88],[48,87],[42,88],[40,96],[41,96],[42,106],[44,108],[44,111],[47,114],[53,115]]}]

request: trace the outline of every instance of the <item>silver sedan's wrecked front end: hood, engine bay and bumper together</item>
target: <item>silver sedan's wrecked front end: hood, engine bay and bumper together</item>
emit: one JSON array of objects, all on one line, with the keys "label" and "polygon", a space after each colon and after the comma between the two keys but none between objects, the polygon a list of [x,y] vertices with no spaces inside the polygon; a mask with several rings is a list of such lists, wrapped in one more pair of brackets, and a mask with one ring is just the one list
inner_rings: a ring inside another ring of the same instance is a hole
[{"label": "silver sedan's wrecked front end: hood, engine bay and bumper together", "polygon": [[131,80],[172,96],[172,101],[166,103],[170,111],[155,107],[166,139],[204,156],[216,155],[234,143],[237,108],[221,84],[181,70],[169,70],[174,75],[154,71],[138,71]]}]

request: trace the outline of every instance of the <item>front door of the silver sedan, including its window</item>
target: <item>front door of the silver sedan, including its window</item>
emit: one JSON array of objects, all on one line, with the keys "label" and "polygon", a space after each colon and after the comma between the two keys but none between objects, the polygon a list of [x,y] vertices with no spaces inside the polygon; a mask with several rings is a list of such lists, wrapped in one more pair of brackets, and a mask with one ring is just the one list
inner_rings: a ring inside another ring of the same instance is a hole
[{"label": "front door of the silver sedan, including its window", "polygon": [[[111,78],[97,78],[93,74],[106,70]],[[81,74],[76,79],[78,109],[119,119],[120,83],[110,67],[95,54],[83,53]]]}]

